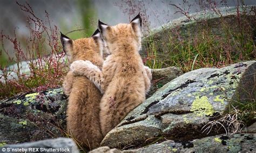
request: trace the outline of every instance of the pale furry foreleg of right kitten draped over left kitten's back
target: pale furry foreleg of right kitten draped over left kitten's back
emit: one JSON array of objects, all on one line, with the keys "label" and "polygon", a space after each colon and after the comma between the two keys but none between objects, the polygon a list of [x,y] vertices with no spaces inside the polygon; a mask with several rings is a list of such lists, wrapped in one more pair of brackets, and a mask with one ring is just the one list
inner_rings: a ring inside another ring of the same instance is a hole
[{"label": "pale furry foreleg of right kitten draped over left kitten's back", "polygon": [[98,66],[92,64],[88,60],[77,60],[72,62],[70,65],[70,70],[74,75],[83,75],[87,77],[95,86],[99,89],[100,92],[103,92],[103,73],[98,68]]}]

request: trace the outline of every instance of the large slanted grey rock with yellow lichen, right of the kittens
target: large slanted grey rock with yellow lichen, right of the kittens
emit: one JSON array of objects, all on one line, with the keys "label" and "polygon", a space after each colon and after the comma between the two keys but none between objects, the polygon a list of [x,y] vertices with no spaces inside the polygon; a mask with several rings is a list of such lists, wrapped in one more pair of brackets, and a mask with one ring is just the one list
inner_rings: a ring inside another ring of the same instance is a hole
[{"label": "large slanted grey rock with yellow lichen, right of the kittens", "polygon": [[[224,113],[242,75],[252,72],[255,62],[201,68],[181,75],[130,112],[105,136],[102,145],[123,148],[144,145],[159,136],[183,141],[207,136],[201,128]],[[216,133],[212,130],[209,135]]]}]

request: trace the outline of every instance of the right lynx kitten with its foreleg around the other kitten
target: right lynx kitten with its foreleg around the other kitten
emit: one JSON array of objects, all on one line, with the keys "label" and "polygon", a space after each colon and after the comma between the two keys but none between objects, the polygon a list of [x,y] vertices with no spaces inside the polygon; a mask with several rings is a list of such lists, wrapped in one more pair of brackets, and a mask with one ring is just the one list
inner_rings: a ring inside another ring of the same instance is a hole
[{"label": "right lynx kitten with its foreleg around the other kitten", "polygon": [[99,30],[109,48],[103,69],[90,61],[76,61],[71,71],[85,75],[104,93],[100,102],[100,124],[106,135],[135,107],[145,100],[152,75],[139,55],[142,18],[136,16],[130,24],[109,26],[99,21]]}]

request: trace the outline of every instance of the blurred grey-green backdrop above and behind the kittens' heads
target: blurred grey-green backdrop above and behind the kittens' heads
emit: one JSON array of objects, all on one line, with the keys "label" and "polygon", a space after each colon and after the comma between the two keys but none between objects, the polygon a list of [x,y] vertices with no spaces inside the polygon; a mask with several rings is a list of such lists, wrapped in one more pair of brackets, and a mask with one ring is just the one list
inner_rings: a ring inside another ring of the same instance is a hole
[{"label": "blurred grey-green backdrop above and behind the kittens' heads", "polygon": [[[193,13],[205,9],[205,6],[210,1],[0,0],[0,31],[12,38],[14,37],[15,30],[16,37],[21,42],[21,47],[24,48],[26,44],[24,43],[25,39],[30,35],[30,30],[28,28],[28,12],[23,11],[17,2],[22,5],[28,2],[33,13],[38,18],[45,20],[46,24],[49,21],[45,18],[45,15],[46,12],[49,13],[51,25],[56,25],[58,30],[63,33],[78,30],[67,34],[70,38],[77,39],[90,36],[97,28],[98,19],[110,25],[128,23],[132,17],[140,12],[144,16],[144,30],[149,30],[170,22],[172,19],[184,16],[182,13],[177,12],[179,9],[176,6],[186,10],[188,13]],[[246,5],[256,4],[255,0],[214,1],[218,7],[235,6],[241,2]],[[15,58],[15,53],[12,49],[13,44],[6,41],[4,47],[9,54],[8,56]],[[1,52],[0,59],[2,61],[6,60],[4,52]]]}]

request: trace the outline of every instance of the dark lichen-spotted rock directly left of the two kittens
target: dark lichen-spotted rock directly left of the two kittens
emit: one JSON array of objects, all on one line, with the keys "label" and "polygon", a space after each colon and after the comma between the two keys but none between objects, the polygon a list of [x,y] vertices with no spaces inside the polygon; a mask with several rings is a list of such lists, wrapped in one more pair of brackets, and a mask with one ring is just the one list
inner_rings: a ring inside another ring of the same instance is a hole
[{"label": "dark lichen-spotted rock directly left of the two kittens", "polygon": [[62,88],[25,93],[0,101],[0,143],[62,136],[66,96]]}]

